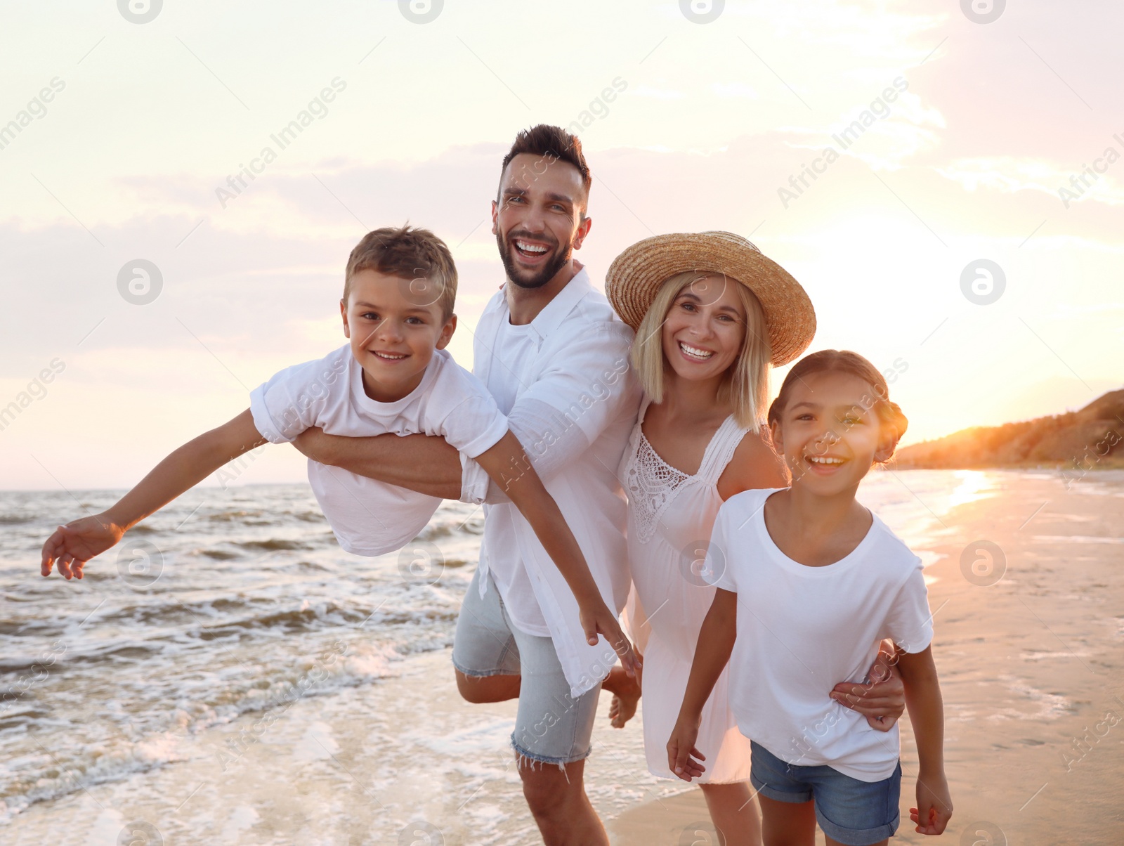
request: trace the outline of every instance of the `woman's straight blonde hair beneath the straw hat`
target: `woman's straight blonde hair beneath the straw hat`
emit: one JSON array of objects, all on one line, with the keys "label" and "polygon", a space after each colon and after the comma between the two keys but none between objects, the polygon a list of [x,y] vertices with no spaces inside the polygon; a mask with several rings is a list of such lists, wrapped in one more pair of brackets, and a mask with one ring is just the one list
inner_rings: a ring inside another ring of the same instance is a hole
[{"label": "woman's straight blonde hair beneath the straw hat", "polygon": [[745,308],[746,317],[742,349],[737,360],[724,375],[718,397],[728,399],[733,404],[737,425],[759,432],[769,400],[769,363],[772,360],[772,350],[761,303],[753,296],[753,291],[741,282],[720,273],[705,273],[698,270],[677,273],[665,280],[656,291],[644,320],[636,327],[636,339],[632,345],[633,367],[636,369],[644,393],[653,403],[662,403],[663,372],[668,367],[663,357],[663,323],[668,312],[671,310],[671,304],[682,289],[708,276],[720,277],[724,282],[733,284]]}]

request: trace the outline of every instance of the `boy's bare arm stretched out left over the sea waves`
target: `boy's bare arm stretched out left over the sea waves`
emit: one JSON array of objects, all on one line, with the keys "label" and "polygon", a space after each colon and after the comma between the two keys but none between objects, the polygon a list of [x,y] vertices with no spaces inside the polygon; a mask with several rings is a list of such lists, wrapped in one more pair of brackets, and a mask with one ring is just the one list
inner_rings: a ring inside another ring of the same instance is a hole
[{"label": "boy's bare arm stretched out left over the sea waves", "polygon": [[227,461],[265,442],[248,408],[188,441],[106,511],[58,526],[43,544],[43,575],[49,576],[52,565],[57,564],[58,573],[66,578],[82,578],[85,562],[117,543],[134,525]]}]

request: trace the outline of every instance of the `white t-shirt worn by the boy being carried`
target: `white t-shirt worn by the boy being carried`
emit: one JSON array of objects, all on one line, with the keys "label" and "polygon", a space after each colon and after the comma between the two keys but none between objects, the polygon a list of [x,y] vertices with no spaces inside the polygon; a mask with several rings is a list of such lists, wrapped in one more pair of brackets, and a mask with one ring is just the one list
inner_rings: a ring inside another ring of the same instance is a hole
[{"label": "white t-shirt worn by the boy being carried", "polygon": [[[446,350],[434,351],[422,382],[393,403],[371,399],[351,348],[287,368],[250,395],[254,425],[272,443],[288,443],[306,429],[366,436],[441,435],[470,458],[507,433],[507,418],[488,389]],[[441,498],[359,476],[311,459],[308,482],[348,552],[377,556],[418,536]]]}]

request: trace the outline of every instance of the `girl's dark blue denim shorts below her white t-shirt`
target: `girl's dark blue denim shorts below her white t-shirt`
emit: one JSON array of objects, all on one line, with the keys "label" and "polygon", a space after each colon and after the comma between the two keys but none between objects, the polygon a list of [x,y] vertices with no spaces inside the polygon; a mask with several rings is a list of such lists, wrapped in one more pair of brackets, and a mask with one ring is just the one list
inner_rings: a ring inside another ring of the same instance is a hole
[{"label": "girl's dark blue denim shorts below her white t-shirt", "polygon": [[816,802],[824,834],[846,846],[869,846],[898,830],[901,763],[889,778],[861,782],[830,766],[797,766],[750,742],[753,789],[778,802]]}]

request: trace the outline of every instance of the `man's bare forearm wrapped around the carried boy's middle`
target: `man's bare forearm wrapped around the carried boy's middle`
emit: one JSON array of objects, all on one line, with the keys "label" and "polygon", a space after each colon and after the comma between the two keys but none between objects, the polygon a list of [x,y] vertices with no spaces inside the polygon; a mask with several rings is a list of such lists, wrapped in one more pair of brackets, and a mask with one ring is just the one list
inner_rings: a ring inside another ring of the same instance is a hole
[{"label": "man's bare forearm wrapped around the carried boy's middle", "polygon": [[443,500],[461,498],[461,453],[438,435],[348,438],[306,429],[292,444],[314,461]]}]

